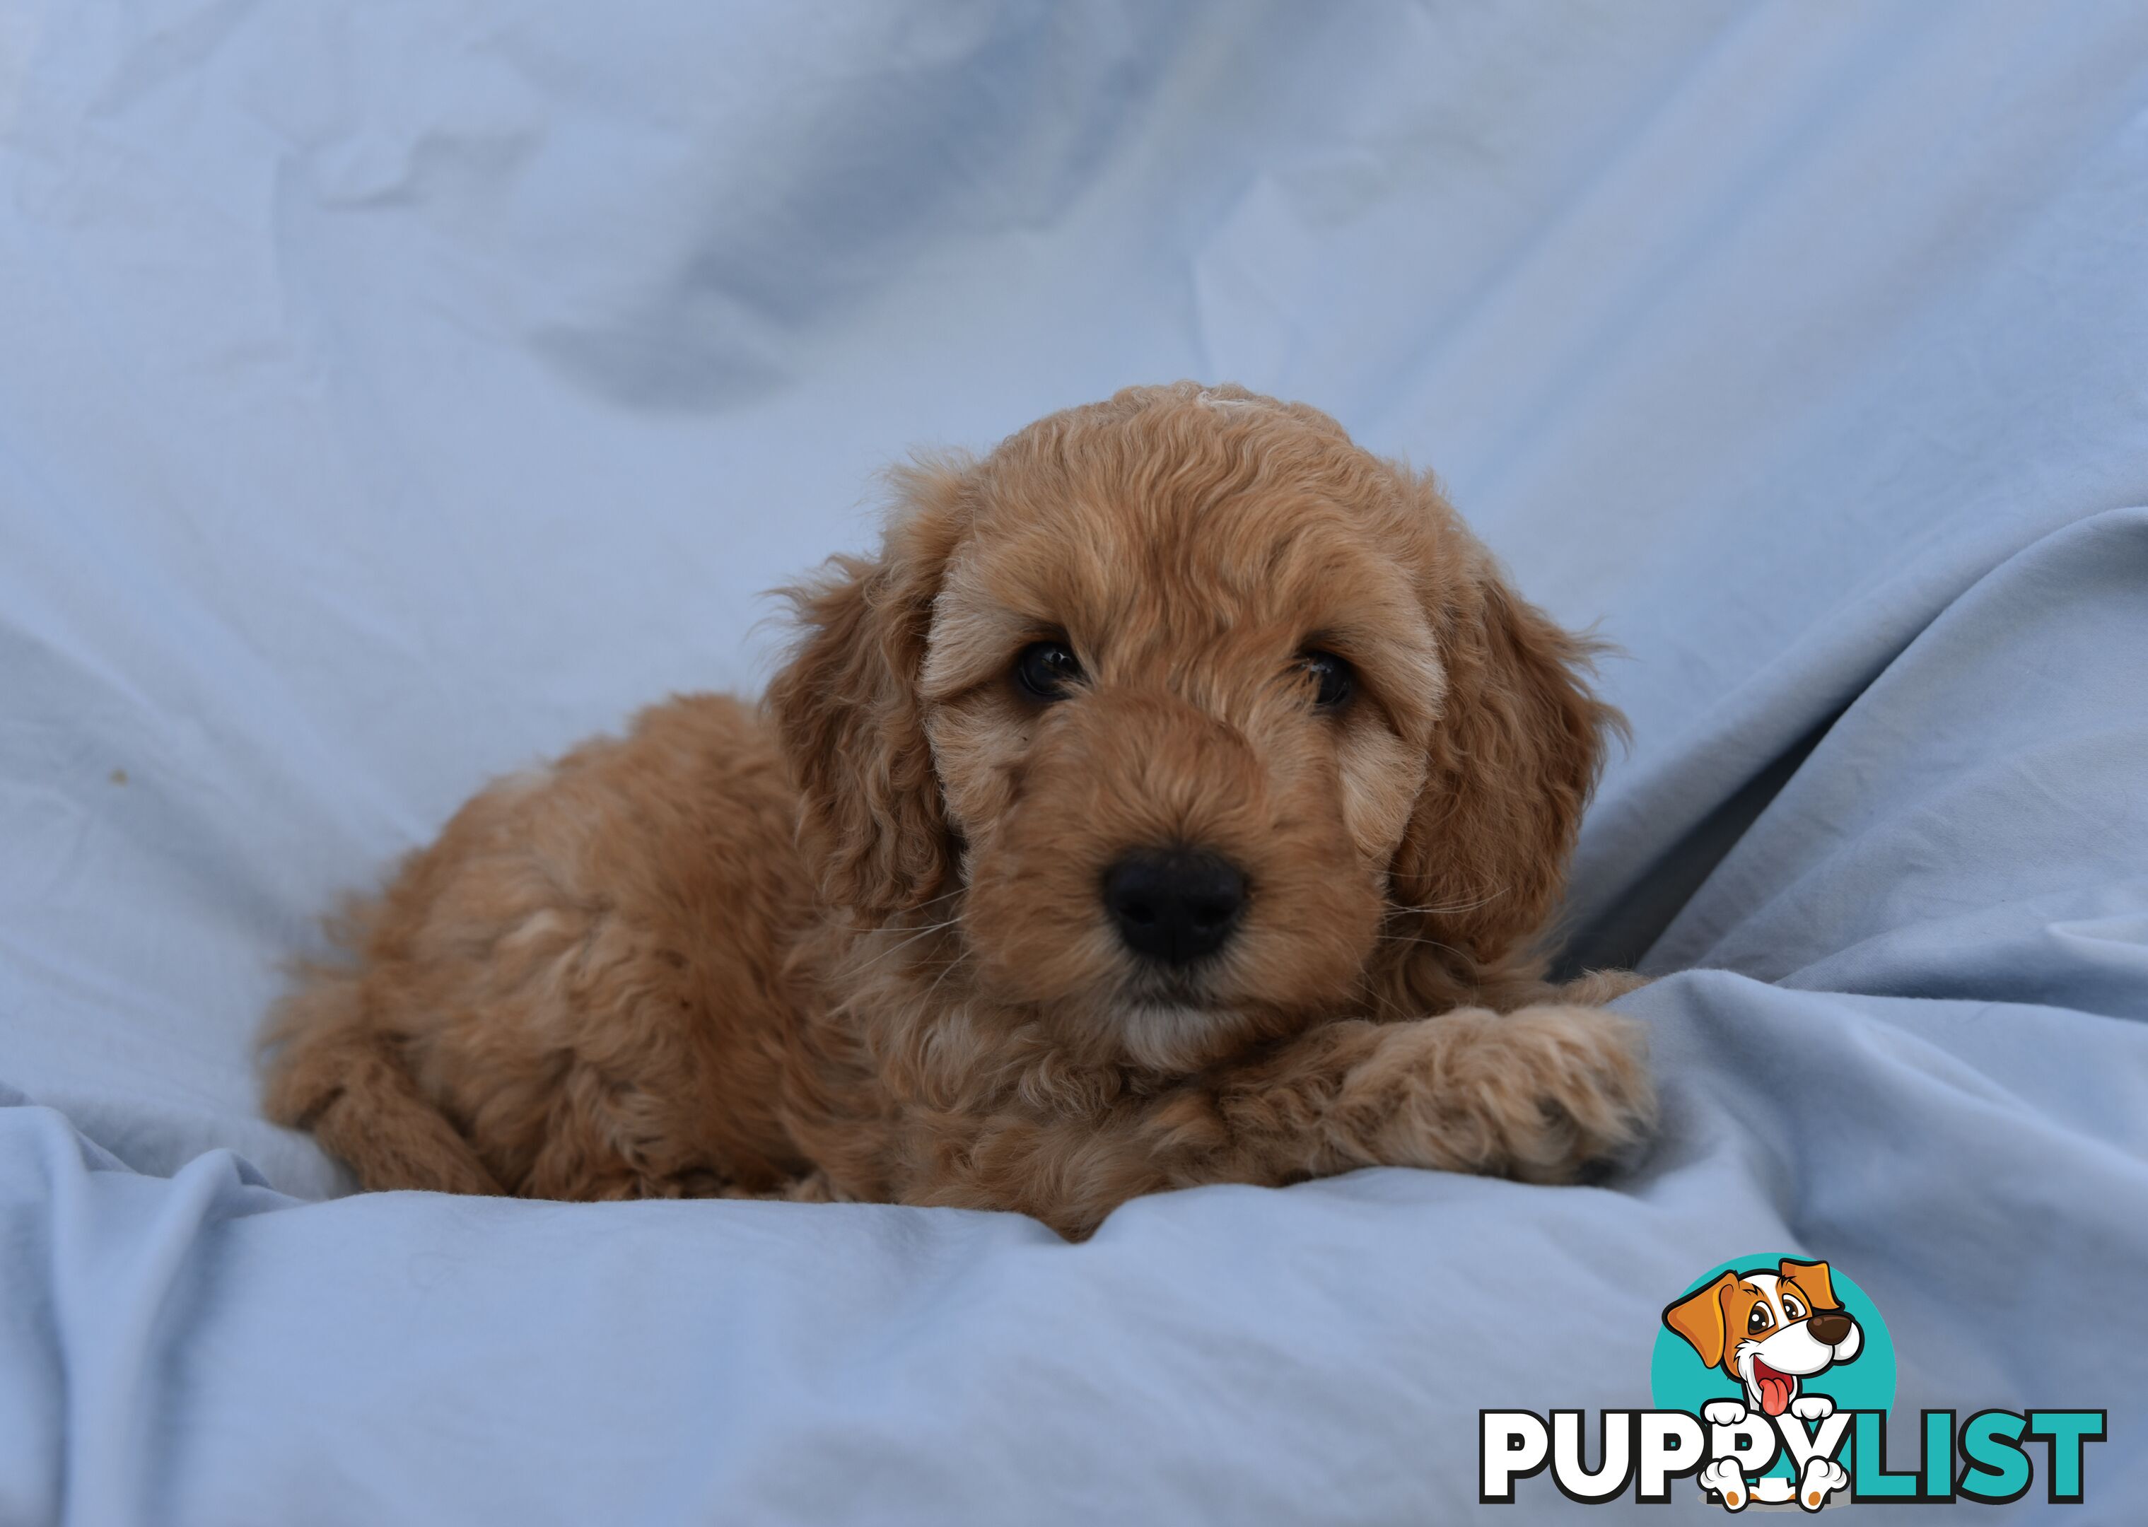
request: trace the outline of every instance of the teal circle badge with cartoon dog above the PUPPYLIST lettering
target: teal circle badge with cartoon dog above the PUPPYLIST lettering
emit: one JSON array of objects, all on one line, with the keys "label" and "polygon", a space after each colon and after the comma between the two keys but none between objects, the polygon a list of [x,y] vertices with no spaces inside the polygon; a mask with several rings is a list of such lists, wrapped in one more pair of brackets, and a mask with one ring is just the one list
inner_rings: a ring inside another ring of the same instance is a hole
[{"label": "teal circle badge with cartoon dog above the PUPPYLIST lettering", "polygon": [[[1813,1321],[1828,1340],[1806,1334]],[[1845,1351],[1849,1357],[1839,1357]],[[1781,1368],[1768,1364],[1770,1353]],[[1693,1415],[1710,1400],[1772,1413],[1811,1394],[1828,1396],[1837,1411],[1890,1411],[1895,1338],[1880,1306],[1839,1267],[1755,1252],[1716,1263],[1665,1306],[1648,1387],[1658,1411]],[[1841,1460],[1849,1467],[1852,1443]],[[1779,1456],[1770,1473],[1789,1473],[1789,1458]]]}]

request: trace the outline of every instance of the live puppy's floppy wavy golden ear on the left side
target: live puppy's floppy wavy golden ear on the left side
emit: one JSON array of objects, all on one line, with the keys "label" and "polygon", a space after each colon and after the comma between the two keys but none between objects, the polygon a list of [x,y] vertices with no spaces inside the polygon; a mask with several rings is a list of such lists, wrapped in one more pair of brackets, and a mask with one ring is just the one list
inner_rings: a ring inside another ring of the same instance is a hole
[{"label": "live puppy's floppy wavy golden ear on the left side", "polygon": [[879,558],[831,558],[818,582],[784,591],[801,636],[769,683],[821,893],[868,917],[932,900],[958,857],[917,674],[941,573],[969,524],[969,479],[964,464],[934,462],[889,481],[896,509]]}]

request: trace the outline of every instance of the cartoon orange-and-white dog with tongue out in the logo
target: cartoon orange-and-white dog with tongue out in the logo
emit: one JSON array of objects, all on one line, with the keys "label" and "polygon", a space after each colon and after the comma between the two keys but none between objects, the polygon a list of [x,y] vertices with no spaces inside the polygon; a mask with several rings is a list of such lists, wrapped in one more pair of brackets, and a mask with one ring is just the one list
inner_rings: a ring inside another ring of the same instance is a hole
[{"label": "cartoon orange-and-white dog with tongue out in the logo", "polygon": [[[1802,1394],[1804,1381],[1834,1364],[1854,1362],[1864,1349],[1864,1332],[1834,1297],[1826,1263],[1781,1261],[1772,1271],[1727,1271],[1695,1289],[1663,1312],[1663,1323],[1686,1338],[1710,1368],[1721,1368],[1744,1390],[1738,1400],[1710,1400],[1708,1422],[1736,1426],[1753,1411],[1770,1417],[1789,1411],[1800,1422],[1834,1413],[1826,1394]],[[1798,1480],[1798,1503],[1817,1506],[1828,1493],[1849,1484],[1847,1471],[1811,1458]],[[1761,1480],[1759,1484],[1772,1484]],[[1755,1488],[1723,1458],[1701,1473],[1701,1486],[1738,1510]],[[1764,1490],[1766,1495],[1766,1490]]]}]

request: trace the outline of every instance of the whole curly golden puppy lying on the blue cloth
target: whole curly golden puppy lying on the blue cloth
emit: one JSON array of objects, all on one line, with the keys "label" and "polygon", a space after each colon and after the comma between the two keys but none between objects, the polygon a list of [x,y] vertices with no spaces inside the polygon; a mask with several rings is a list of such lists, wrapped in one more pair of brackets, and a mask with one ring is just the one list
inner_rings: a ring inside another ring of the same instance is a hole
[{"label": "whole curly golden puppy lying on the blue cloth", "polygon": [[367,1188],[969,1205],[1630,1147],[1547,986],[1590,644],[1321,412],[1130,389],[896,475],[763,707],[494,784],[268,1029]]}]

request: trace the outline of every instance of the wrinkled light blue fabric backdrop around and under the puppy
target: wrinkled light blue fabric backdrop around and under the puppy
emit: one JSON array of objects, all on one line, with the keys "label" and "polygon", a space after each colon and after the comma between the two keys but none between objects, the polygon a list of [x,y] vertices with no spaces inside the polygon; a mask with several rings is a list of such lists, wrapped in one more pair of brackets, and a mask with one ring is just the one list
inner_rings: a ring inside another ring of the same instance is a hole
[{"label": "wrinkled light blue fabric backdrop around and under the puppy", "polygon": [[[2133,1521],[2148,11],[17,0],[0,187],[0,1521],[1452,1521],[1480,1407],[1648,1405],[1772,1252],[1903,1415],[2107,1407]],[[1635,1170],[1065,1246],[258,1117],[339,891],[756,687],[876,466],[1177,376],[1622,649],[1564,960],[1663,977]]]}]

